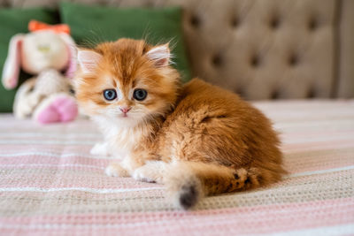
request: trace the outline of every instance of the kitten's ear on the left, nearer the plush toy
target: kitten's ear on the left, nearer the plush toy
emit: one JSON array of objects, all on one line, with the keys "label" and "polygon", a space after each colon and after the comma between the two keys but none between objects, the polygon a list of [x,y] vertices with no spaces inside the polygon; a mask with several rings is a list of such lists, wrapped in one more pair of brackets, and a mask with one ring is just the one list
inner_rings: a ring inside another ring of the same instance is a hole
[{"label": "kitten's ear on the left, nearer the plush toy", "polygon": [[102,55],[93,50],[84,49],[79,50],[77,59],[82,72],[92,73],[95,72],[98,62],[102,59]]}]

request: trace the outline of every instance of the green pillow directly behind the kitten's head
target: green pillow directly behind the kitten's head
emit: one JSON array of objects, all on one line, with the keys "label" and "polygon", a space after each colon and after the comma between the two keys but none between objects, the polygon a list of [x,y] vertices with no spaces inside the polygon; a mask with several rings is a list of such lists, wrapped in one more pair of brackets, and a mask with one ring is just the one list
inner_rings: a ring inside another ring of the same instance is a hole
[{"label": "green pillow directly behind the kitten's head", "polygon": [[172,40],[175,67],[183,81],[190,80],[179,7],[110,8],[65,2],[60,4],[60,16],[71,27],[73,39],[79,45],[116,41],[122,37],[146,38],[152,44]]}]

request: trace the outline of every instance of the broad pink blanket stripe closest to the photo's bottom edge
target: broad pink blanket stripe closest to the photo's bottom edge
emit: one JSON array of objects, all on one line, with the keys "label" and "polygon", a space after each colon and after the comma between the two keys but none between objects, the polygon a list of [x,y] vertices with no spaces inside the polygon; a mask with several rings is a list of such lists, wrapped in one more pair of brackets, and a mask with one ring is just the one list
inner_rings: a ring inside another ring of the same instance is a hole
[{"label": "broad pink blanket stripe closest to the photo's bottom edge", "polygon": [[[2,217],[7,225],[116,225],[127,232],[198,232],[200,235],[218,229],[218,232],[271,233],[320,226],[354,223],[354,199],[336,199],[318,202],[299,202],[233,209],[198,211],[160,211],[145,213],[83,214],[50,217]],[[142,223],[142,224],[139,224]],[[136,225],[137,224],[137,225]],[[103,230],[103,229],[101,229]],[[107,227],[106,230],[110,230]],[[116,230],[116,229],[112,229]]]}]

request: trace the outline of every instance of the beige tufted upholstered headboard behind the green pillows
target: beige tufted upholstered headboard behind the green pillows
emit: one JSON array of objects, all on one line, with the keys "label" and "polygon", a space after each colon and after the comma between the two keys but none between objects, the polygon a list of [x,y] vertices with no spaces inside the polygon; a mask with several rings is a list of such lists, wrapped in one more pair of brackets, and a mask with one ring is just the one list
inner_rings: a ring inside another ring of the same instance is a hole
[{"label": "beige tufted upholstered headboard behind the green pillows", "polygon": [[[0,0],[56,6],[59,0]],[[353,0],[77,0],[181,5],[195,76],[246,99],[354,96]]]}]

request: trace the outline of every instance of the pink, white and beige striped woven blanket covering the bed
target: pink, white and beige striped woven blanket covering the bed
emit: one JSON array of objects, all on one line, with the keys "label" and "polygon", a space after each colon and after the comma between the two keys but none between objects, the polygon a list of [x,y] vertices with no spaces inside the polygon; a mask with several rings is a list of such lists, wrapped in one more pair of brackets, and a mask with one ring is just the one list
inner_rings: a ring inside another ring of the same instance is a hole
[{"label": "pink, white and beige striped woven blanket covering the bed", "polygon": [[354,100],[255,103],[281,132],[281,182],[174,209],[163,186],[104,175],[88,120],[0,116],[2,235],[354,235]]}]

